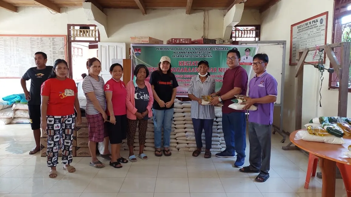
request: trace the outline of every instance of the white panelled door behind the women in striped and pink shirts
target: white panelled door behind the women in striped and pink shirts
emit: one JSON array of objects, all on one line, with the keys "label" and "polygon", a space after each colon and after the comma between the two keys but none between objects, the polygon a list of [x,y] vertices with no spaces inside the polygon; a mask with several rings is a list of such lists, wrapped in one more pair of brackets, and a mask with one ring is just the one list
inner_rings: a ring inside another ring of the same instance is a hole
[{"label": "white panelled door behind the women in striped and pink shirts", "polygon": [[111,79],[110,66],[112,65],[112,59],[126,58],[126,43],[125,42],[99,42],[98,56],[101,61],[100,76],[104,79],[104,82],[106,83],[108,80]]}]

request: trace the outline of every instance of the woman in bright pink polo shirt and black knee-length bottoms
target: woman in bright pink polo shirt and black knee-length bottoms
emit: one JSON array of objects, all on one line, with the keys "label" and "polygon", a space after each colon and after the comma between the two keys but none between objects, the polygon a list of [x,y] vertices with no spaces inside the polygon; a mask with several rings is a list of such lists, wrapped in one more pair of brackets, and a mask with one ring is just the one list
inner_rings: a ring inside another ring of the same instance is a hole
[{"label": "woman in bright pink polo shirt and black knee-length bottoms", "polygon": [[111,143],[110,166],[122,168],[121,163],[128,163],[120,155],[122,140],[127,138],[127,110],[126,110],[126,85],[121,80],[123,67],[119,63],[112,64],[110,67],[112,78],[104,85],[107,101],[107,131]]}]

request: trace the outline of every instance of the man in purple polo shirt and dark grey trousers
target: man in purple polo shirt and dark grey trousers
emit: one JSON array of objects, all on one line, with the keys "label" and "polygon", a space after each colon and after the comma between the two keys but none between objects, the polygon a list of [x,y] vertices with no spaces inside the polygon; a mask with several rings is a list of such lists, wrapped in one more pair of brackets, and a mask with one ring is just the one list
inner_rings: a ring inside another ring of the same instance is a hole
[{"label": "man in purple polo shirt and dark grey trousers", "polygon": [[243,173],[259,173],[256,181],[265,182],[269,178],[271,160],[271,129],[274,102],[277,100],[277,80],[267,73],[267,54],[256,54],[252,68],[256,73],[249,83],[249,99],[242,103],[244,109],[257,106],[249,114],[250,166],[240,169]]}]

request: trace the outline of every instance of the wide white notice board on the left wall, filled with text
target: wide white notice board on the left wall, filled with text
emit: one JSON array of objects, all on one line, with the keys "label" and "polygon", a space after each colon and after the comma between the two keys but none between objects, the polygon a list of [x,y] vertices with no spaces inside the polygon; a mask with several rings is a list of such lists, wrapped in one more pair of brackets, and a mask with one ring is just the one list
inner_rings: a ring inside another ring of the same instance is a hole
[{"label": "wide white notice board on the left wall, filled with text", "polygon": [[66,35],[0,35],[0,78],[21,78],[35,66],[38,51],[46,53],[46,65],[66,60],[66,44]]}]

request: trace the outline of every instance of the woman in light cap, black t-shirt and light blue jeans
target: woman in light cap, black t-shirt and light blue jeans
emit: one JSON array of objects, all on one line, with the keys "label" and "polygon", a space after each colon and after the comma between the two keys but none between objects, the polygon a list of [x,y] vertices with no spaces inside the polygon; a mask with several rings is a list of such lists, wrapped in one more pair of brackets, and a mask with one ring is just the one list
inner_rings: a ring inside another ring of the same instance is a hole
[{"label": "woman in light cap, black t-shirt and light blue jeans", "polygon": [[173,106],[177,93],[177,79],[171,72],[171,59],[163,56],[158,63],[158,70],[151,73],[150,84],[154,103],[152,113],[154,118],[155,156],[162,156],[161,129],[163,127],[163,153],[171,156],[170,135],[172,130]]}]

